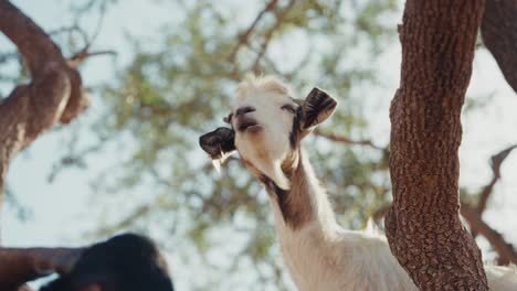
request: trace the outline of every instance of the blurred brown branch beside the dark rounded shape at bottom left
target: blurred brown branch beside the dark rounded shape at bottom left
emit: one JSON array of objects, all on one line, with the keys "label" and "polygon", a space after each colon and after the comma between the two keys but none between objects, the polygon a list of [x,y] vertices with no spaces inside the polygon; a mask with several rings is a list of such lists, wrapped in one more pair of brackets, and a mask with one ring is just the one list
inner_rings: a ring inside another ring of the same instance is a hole
[{"label": "blurred brown branch beside the dark rounded shape at bottom left", "polygon": [[0,282],[27,282],[52,272],[68,273],[83,250],[0,247]]}]

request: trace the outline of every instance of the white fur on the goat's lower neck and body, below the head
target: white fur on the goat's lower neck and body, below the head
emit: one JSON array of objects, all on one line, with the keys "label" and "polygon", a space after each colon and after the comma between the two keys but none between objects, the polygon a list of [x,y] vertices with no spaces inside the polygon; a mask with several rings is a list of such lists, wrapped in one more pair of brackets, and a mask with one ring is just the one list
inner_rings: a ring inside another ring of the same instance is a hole
[{"label": "white fur on the goat's lower neck and body, below the head", "polygon": [[[316,217],[293,231],[272,201],[275,224],[284,261],[293,281],[305,290],[419,290],[391,254],[386,237],[373,229],[348,230],[335,219],[325,191],[318,185],[307,160],[312,204]],[[517,290],[515,268],[485,266],[490,290]]]}]

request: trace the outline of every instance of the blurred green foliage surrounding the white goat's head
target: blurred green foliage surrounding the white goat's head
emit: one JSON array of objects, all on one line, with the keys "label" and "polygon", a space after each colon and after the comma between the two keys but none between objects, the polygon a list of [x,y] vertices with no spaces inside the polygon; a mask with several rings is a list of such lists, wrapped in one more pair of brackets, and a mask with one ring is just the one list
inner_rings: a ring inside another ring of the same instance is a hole
[{"label": "blurred green foliage surrounding the white goat's head", "polygon": [[[235,246],[240,249],[236,254],[256,263],[271,261],[274,248],[271,212],[258,183],[236,159],[223,165],[218,176],[197,144],[201,133],[222,125],[232,90],[244,74],[281,75],[302,89],[302,95],[316,84],[335,93],[340,107],[333,122],[325,126],[327,133],[360,139],[368,128],[358,110],[362,96],[355,96],[354,88],[374,84],[376,72],[350,58],[367,55],[372,60],[379,47],[393,39],[393,30],[381,20],[393,12],[394,1],[295,1],[293,7],[281,3],[240,45],[238,35],[247,26],[235,26],[235,12],[212,1],[186,6],[179,25],[167,26],[155,35],[160,48],[150,50],[138,40],[131,41],[133,62],[119,72],[116,83],[103,89],[107,112],[103,125],[113,134],[130,133],[135,146],[130,159],[119,169],[123,177],[110,190],[134,187],[143,182],[144,173],[152,173],[151,184],[171,193],[168,197],[173,203],[151,205],[147,215],[186,211],[186,236],[203,254],[214,248],[210,230],[221,226],[246,229],[247,242]],[[285,18],[277,23],[283,11]],[[275,32],[268,33],[273,29]],[[293,33],[300,33],[304,40],[286,50],[314,48],[294,65],[284,66],[272,46],[288,43]],[[233,60],[232,51],[236,51]],[[261,51],[264,55],[257,58]],[[341,223],[362,227],[389,198],[383,151],[339,144],[323,137],[312,139],[306,142],[308,152]]]}]

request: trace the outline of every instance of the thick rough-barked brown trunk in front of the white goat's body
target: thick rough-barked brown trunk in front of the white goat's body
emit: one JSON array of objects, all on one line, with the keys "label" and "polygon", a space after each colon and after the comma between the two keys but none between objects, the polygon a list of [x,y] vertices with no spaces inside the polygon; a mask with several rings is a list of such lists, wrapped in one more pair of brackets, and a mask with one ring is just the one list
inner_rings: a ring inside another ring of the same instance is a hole
[{"label": "thick rough-barked brown trunk in front of the white goat's body", "polygon": [[458,200],[460,120],[483,0],[408,0],[402,73],[390,108],[393,255],[421,290],[488,290]]}]

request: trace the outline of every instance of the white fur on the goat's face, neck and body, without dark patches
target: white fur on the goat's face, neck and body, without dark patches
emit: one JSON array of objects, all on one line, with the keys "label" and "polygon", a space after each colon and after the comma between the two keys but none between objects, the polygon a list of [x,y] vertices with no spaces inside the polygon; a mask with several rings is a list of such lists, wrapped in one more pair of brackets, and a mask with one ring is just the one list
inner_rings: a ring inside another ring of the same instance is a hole
[{"label": "white fur on the goat's face, neck and body, without dark patches", "polygon": [[[238,89],[234,108],[253,106],[251,112],[261,126],[261,134],[236,133],[235,146],[241,157],[267,174],[281,187],[289,181],[279,164],[292,151],[288,133],[293,116],[281,110],[291,98],[274,79],[249,78]],[[274,88],[274,89],[271,89]],[[271,198],[277,236],[284,261],[295,284],[302,291],[418,290],[407,272],[392,256],[384,236],[376,231],[354,231],[341,228],[335,218],[327,194],[319,186],[305,154],[302,153],[306,192],[313,209],[312,220],[293,230],[284,219],[277,202]],[[493,290],[517,290],[514,268],[485,267]]]}]

